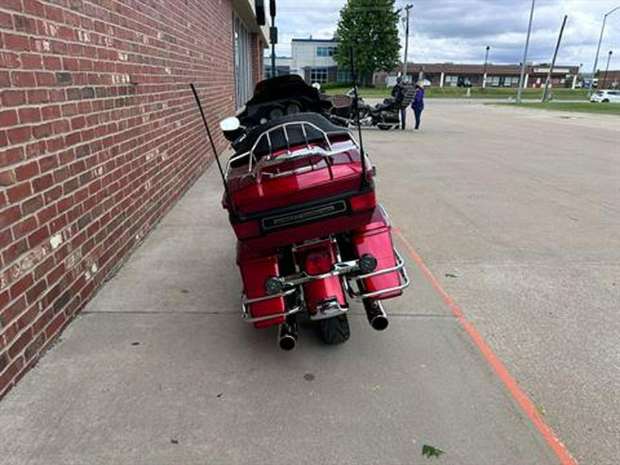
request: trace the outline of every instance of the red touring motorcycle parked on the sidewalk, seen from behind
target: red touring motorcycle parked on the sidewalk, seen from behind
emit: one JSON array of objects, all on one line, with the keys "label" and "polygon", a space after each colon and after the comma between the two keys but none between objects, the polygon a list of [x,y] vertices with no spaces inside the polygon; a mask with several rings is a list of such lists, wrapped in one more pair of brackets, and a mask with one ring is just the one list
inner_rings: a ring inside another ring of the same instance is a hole
[{"label": "red touring motorcycle parked on the sidewalk, seen from behind", "polygon": [[346,341],[351,299],[374,329],[386,329],[382,300],[409,285],[374,169],[351,133],[324,116],[330,105],[298,76],[278,76],[220,123],[235,152],[220,171],[238,238],[242,316],[257,328],[278,325],[285,350],[296,345],[300,313],[328,344]]}]

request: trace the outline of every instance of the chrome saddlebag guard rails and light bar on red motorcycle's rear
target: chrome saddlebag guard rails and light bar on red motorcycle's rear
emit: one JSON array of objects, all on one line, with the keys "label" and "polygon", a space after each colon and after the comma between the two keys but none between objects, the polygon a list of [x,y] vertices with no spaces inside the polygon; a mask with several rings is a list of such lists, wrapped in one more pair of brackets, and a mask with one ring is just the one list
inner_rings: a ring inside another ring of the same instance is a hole
[{"label": "chrome saddlebag guard rails and light bar on red motorcycle's rear", "polygon": [[[309,275],[305,271],[301,271],[300,273],[296,273],[289,276],[281,276],[277,277],[280,284],[282,285],[282,291],[278,293],[273,293],[271,295],[257,297],[257,298],[247,298],[245,293],[241,295],[241,306],[242,306],[242,317],[245,322],[248,323],[256,323],[265,320],[271,320],[272,318],[278,317],[287,317],[289,315],[293,315],[294,313],[298,313],[304,309],[303,300],[300,304],[296,305],[292,309],[288,309],[282,313],[272,313],[269,315],[263,315],[259,317],[252,317],[249,311],[249,304],[254,304],[257,302],[265,302],[267,300],[287,297],[293,294],[298,290],[300,285],[305,284],[306,282],[310,282],[312,280],[320,280],[325,278],[331,278],[332,276],[341,276],[342,284],[344,285],[344,289],[349,294],[349,298],[354,300],[364,300],[366,298],[380,298],[384,294],[392,293],[395,291],[402,291],[406,287],[409,287],[410,280],[407,275],[406,269],[404,267],[404,260],[402,260],[402,256],[398,253],[398,251],[394,248],[394,256],[396,258],[396,265],[394,267],[380,269],[376,271],[371,271],[371,273],[364,274],[353,274],[352,276],[349,273],[356,273],[360,271],[360,260],[349,260],[346,262],[335,262],[331,271],[328,273],[322,273],[320,275]],[[373,276],[380,276],[386,273],[393,273],[397,271],[400,274],[400,285],[395,287],[390,287],[388,289],[380,289],[379,291],[373,292],[363,292],[363,286],[361,285],[361,280],[366,278],[372,278]],[[355,282],[355,287],[357,289],[353,289],[351,286],[351,282]],[[343,310],[346,311],[346,310]]]}]

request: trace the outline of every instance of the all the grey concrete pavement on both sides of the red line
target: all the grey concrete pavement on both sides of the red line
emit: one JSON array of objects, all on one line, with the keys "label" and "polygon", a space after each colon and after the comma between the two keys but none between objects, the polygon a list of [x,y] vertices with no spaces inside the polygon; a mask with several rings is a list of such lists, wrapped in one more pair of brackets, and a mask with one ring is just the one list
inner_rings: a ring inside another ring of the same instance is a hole
[{"label": "all the grey concrete pavement on both sides of the red line", "polygon": [[413,281],[387,331],[354,307],[347,344],[302,327],[282,353],[243,324],[211,167],[0,403],[0,457],[424,464],[428,444],[438,464],[558,463],[445,289],[570,453],[617,463],[617,118],[454,101],[423,118],[364,132]]}]

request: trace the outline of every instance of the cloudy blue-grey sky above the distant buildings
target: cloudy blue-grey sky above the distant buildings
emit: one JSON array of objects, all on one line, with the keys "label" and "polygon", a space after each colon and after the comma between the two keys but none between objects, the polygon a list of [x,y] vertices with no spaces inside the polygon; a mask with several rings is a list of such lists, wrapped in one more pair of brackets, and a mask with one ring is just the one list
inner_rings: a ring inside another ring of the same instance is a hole
[{"label": "cloudy blue-grey sky above the distant buildings", "polygon": [[[266,1],[265,3],[268,4]],[[345,0],[277,0],[280,32],[278,56],[290,56],[291,39],[330,38]],[[530,13],[530,0],[396,0],[396,8],[413,3],[409,61],[482,63],[490,45],[491,63],[519,63]],[[557,63],[594,64],[603,14],[620,0],[536,0],[528,61],[550,62],[564,14],[568,22]],[[404,43],[404,26],[400,27]],[[607,19],[598,68],[620,69],[620,10]]]}]

